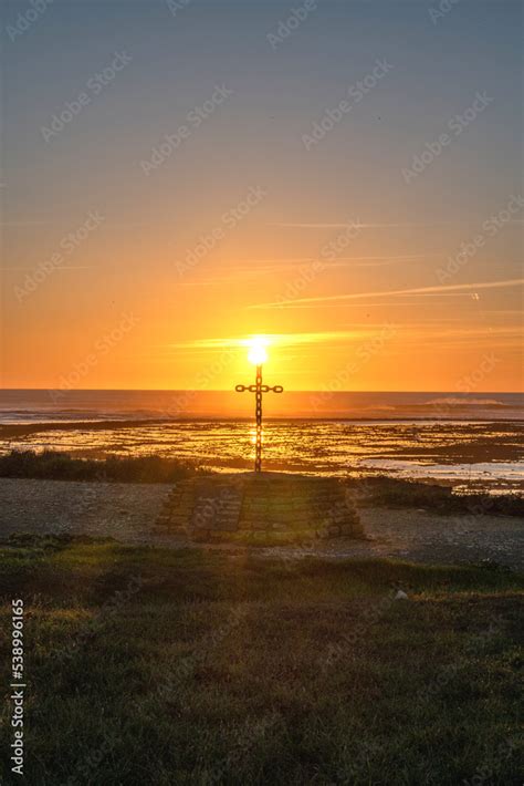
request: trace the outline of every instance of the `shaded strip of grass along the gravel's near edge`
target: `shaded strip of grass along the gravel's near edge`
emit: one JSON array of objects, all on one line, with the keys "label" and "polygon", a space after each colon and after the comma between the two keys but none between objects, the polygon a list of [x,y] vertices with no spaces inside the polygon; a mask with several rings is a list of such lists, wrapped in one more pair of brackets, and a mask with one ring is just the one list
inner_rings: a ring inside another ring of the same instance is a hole
[{"label": "shaded strip of grass along the gravel's near edge", "polygon": [[[142,576],[143,597],[155,600],[329,600],[413,592],[520,589],[523,577],[499,565],[431,566],[395,559],[283,561],[253,551],[133,547],[87,536],[11,536],[0,549],[0,593],[14,589],[50,600],[98,603]],[[289,594],[290,586],[293,593]]]}]

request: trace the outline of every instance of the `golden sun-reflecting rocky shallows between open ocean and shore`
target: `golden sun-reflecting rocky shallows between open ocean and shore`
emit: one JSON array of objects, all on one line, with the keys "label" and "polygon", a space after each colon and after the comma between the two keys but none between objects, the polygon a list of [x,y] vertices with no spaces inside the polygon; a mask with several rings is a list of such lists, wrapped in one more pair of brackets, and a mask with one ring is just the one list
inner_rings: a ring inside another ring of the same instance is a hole
[{"label": "golden sun-reflecting rocky shallows between open ocean and shore", "polygon": [[[524,487],[516,423],[271,421],[263,431],[265,469],[312,474],[457,478]],[[3,452],[45,448],[103,457],[156,454],[217,469],[252,466],[256,431],[245,421],[140,423],[57,428],[6,442]],[[489,468],[485,463],[491,462]],[[505,479],[504,479],[505,478]]]}]

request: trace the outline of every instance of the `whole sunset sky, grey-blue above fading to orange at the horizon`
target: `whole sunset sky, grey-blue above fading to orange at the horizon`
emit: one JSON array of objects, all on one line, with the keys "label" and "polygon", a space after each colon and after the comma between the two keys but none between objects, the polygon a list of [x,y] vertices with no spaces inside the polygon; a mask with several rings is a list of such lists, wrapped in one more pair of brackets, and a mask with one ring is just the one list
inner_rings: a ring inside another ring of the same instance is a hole
[{"label": "whole sunset sky, grey-blue above fading to orange at the horizon", "polygon": [[522,2],[1,14],[3,387],[522,390]]}]

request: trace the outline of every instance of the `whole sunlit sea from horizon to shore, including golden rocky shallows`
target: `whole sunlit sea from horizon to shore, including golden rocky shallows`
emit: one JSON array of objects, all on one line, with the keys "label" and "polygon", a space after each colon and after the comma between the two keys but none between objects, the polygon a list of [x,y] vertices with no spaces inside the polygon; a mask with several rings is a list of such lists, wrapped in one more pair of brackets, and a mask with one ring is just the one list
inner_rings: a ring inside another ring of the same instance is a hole
[{"label": "whole sunlit sea from horizon to shore, including golden rocky shallows", "polygon": [[[0,452],[159,455],[250,468],[253,396],[234,391],[0,391]],[[289,392],[264,397],[263,467],[387,475],[524,495],[524,394]]]}]

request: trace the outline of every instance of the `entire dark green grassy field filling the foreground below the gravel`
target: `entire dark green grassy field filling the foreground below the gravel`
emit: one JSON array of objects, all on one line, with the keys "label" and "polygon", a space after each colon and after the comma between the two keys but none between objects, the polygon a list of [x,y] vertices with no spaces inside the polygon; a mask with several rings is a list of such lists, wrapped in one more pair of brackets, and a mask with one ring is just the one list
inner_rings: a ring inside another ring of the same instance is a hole
[{"label": "entire dark green grassy field filling the foreground below the gravel", "polygon": [[30,538],[0,563],[24,783],[523,782],[523,576]]}]

